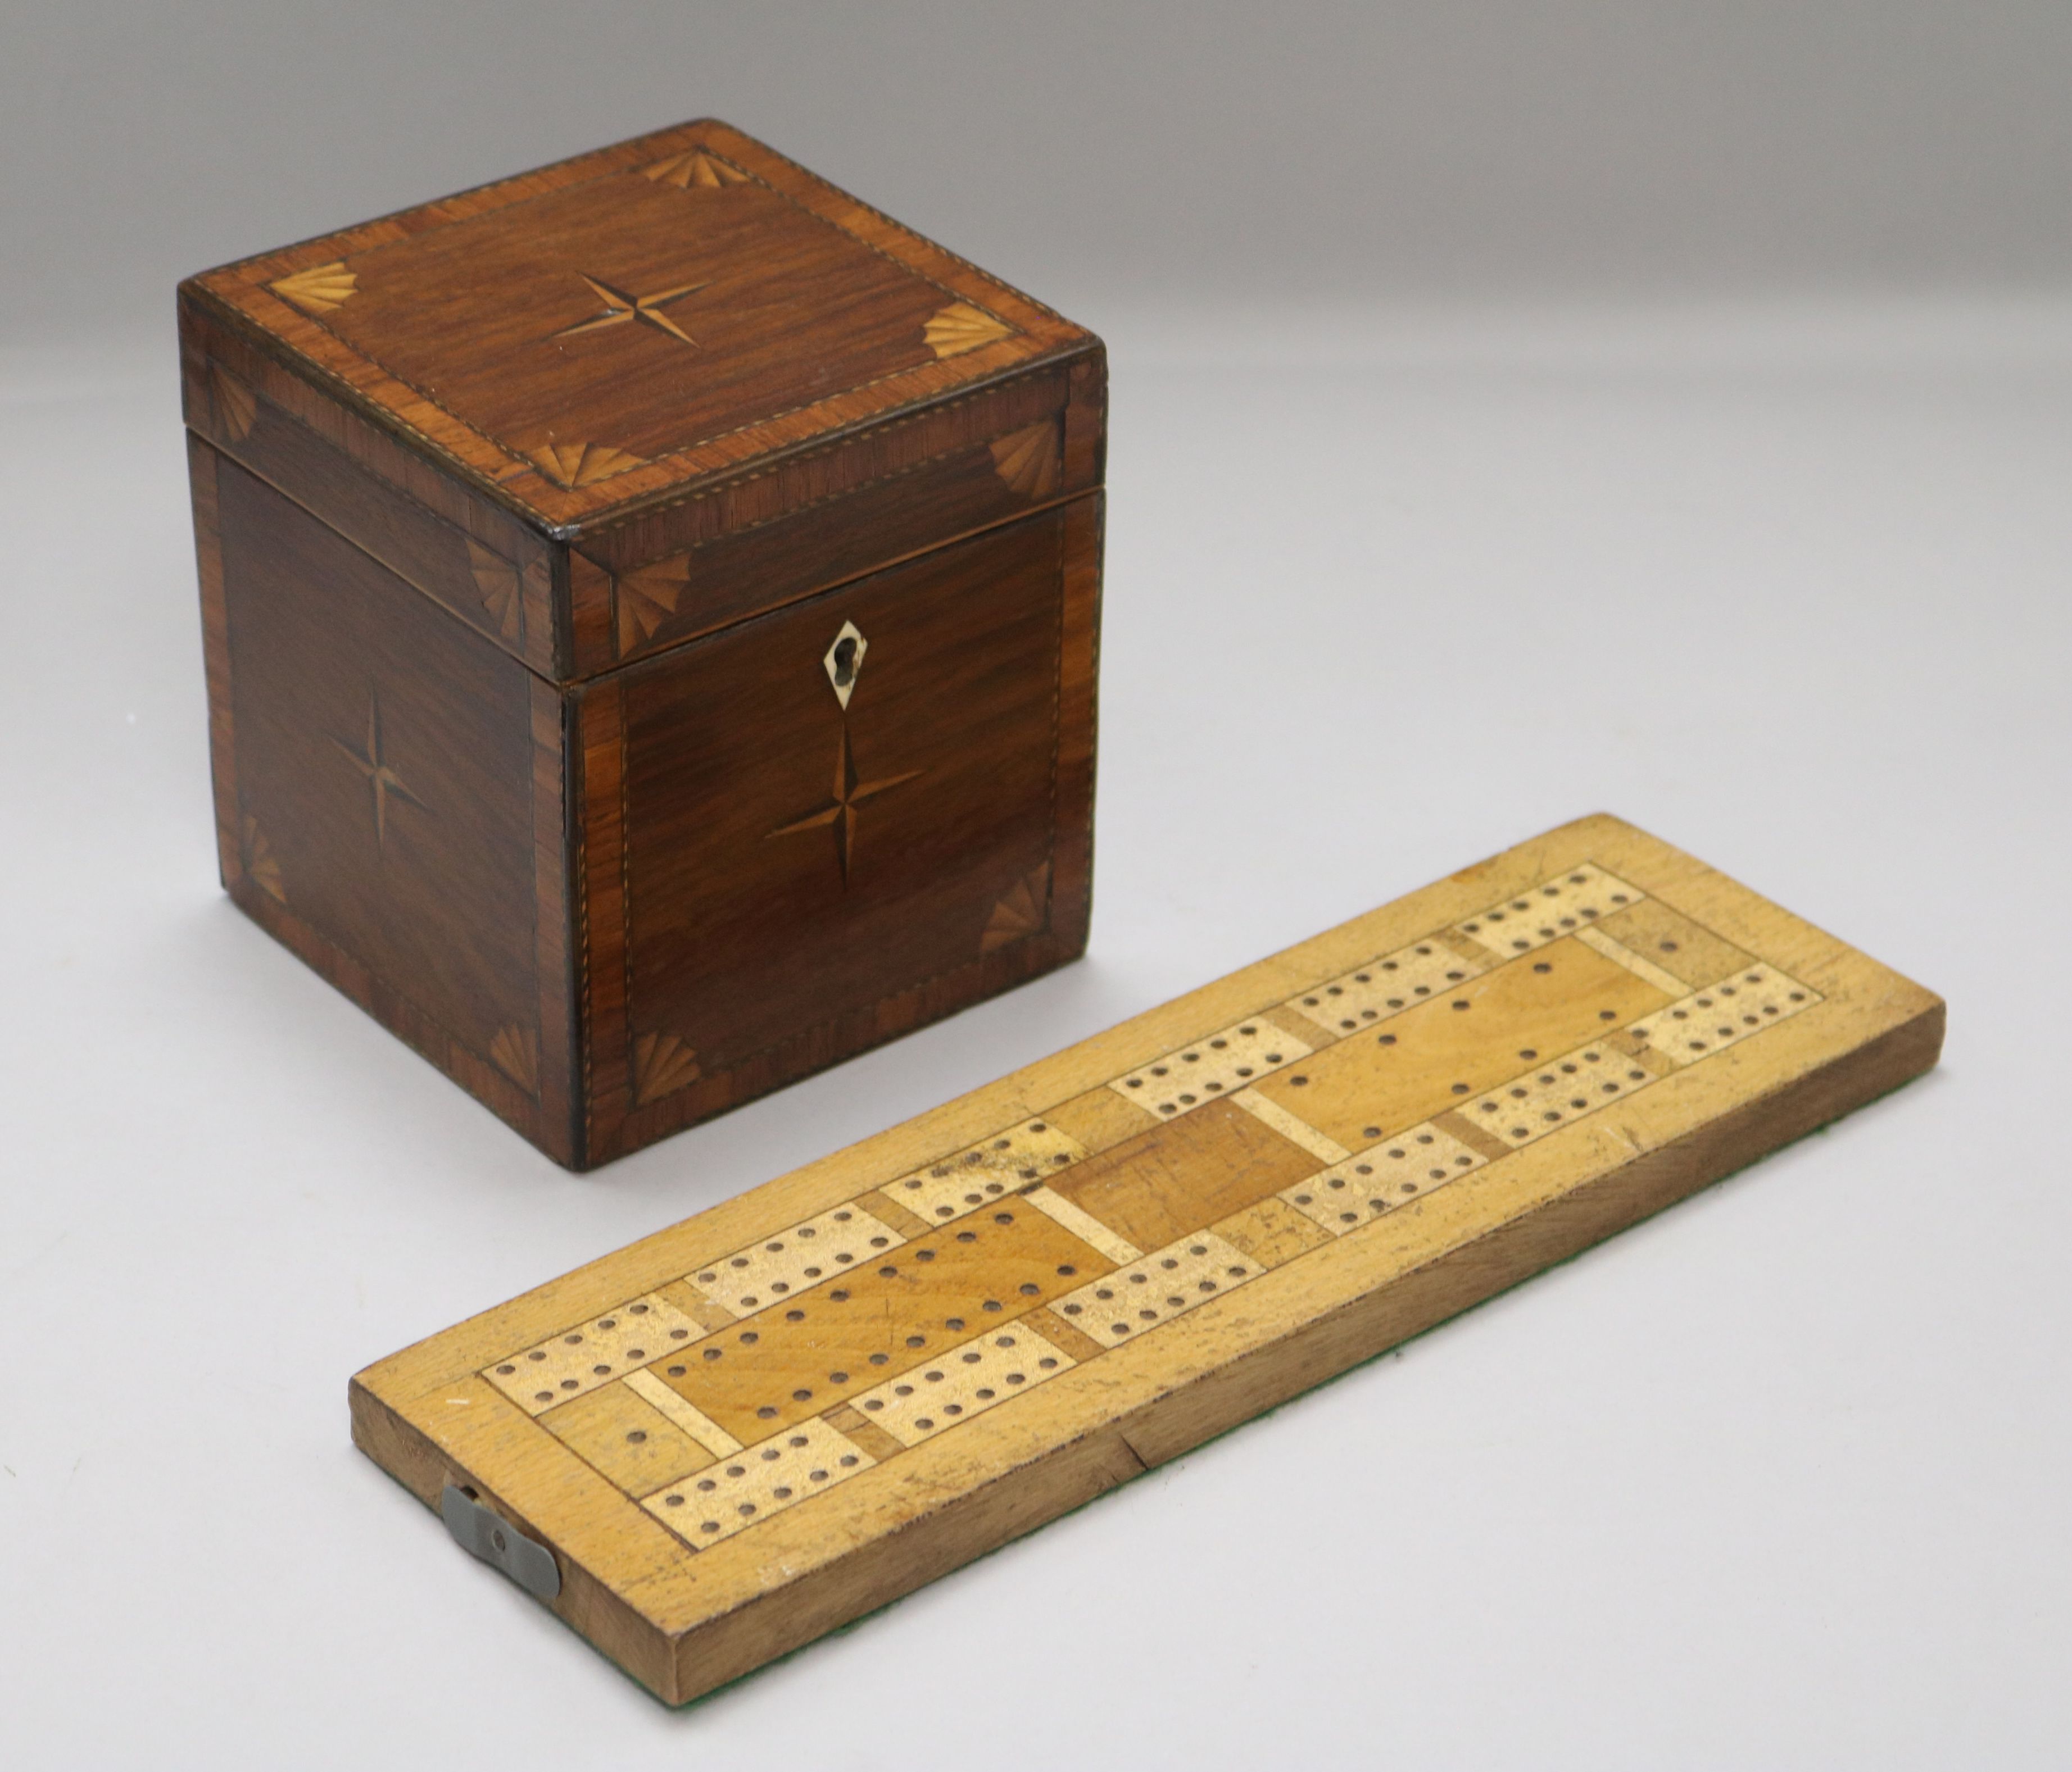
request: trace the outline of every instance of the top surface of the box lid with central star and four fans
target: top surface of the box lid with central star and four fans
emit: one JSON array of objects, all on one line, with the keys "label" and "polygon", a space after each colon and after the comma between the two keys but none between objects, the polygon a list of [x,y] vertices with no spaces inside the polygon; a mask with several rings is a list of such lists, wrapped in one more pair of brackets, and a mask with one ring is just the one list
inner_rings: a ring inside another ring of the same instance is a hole
[{"label": "top surface of the box lid with central star and four fans", "polygon": [[[182,298],[564,541],[1100,350],[715,120],[205,271]],[[839,460],[779,475],[758,520],[841,483]]]}]

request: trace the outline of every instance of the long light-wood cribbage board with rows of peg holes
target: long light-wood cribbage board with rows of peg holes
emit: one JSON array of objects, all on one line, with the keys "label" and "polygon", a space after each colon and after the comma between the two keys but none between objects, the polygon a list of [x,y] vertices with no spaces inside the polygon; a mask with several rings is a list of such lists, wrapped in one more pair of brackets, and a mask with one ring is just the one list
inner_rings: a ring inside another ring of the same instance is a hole
[{"label": "long light-wood cribbage board with rows of peg holes", "polygon": [[371,1366],[354,1438],[684,1702],[1894,1088],[1941,1028],[1583,819]]}]

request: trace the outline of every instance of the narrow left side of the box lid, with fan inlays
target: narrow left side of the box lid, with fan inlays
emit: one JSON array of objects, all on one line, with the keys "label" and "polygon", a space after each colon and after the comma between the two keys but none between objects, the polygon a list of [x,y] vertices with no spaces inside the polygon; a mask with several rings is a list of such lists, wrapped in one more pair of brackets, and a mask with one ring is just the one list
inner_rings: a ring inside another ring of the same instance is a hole
[{"label": "narrow left side of the box lid, with fan inlays", "polygon": [[189,429],[545,678],[568,655],[559,549],[286,367],[180,303]]}]

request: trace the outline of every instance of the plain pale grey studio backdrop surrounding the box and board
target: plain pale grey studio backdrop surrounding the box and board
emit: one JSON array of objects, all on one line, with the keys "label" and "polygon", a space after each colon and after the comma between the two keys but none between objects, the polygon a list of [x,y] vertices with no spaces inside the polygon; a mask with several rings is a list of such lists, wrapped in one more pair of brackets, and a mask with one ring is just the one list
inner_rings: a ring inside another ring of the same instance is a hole
[{"label": "plain pale grey studio backdrop surrounding the box and board", "polygon": [[[6,19],[0,1760],[2062,1764],[2066,19],[1370,12]],[[1094,939],[576,1179],[215,887],[170,280],[700,112],[1111,340]],[[1600,808],[1944,1067],[682,1714],[350,1449],[369,1360]]]}]

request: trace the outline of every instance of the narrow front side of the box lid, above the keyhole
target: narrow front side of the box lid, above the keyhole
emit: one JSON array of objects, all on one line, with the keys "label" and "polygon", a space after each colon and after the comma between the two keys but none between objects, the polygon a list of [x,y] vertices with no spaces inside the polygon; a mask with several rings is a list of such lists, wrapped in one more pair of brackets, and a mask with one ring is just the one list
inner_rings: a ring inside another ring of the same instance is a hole
[{"label": "narrow front side of the box lid, above the keyhole", "polygon": [[574,669],[649,657],[1100,485],[1098,344],[584,535]]}]

